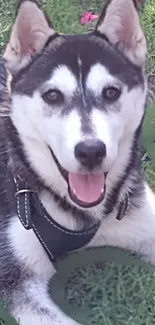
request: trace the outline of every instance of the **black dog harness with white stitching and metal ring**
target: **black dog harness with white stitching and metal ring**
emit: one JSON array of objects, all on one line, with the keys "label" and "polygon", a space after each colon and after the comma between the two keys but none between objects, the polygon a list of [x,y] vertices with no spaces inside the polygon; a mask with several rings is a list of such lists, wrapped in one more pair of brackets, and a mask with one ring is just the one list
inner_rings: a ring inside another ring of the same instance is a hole
[{"label": "black dog harness with white stitching and metal ring", "polygon": [[[16,209],[19,220],[26,230],[32,229],[53,262],[66,253],[79,250],[94,238],[101,221],[90,222],[87,229],[71,231],[59,225],[45,210],[36,192],[19,177],[14,179]],[[128,197],[121,202],[117,219],[121,220],[128,208]]]}]

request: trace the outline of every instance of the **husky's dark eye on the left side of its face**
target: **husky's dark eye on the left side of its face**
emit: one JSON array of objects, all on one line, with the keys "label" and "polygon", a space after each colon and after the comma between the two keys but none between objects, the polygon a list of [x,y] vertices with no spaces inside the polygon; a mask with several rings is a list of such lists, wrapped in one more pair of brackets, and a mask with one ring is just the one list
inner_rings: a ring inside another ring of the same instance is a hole
[{"label": "husky's dark eye on the left side of its face", "polygon": [[63,102],[63,94],[57,89],[49,89],[42,95],[43,100],[49,105],[60,105]]}]

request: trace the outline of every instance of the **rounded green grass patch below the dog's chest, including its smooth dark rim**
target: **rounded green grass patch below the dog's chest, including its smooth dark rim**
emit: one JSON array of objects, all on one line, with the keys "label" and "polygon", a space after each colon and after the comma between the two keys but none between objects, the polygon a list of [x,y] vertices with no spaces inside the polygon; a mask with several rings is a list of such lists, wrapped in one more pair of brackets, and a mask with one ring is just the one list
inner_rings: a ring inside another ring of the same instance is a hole
[{"label": "rounded green grass patch below the dog's chest, including its smooth dark rim", "polygon": [[134,254],[97,248],[57,267],[53,299],[83,325],[155,324],[155,269]]}]

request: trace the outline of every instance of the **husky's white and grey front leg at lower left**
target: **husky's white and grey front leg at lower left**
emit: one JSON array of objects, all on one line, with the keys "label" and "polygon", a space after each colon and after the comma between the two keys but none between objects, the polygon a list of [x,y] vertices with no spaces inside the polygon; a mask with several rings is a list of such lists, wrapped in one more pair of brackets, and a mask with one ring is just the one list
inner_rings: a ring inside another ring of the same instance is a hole
[{"label": "husky's white and grey front leg at lower left", "polygon": [[[10,313],[20,325],[76,325],[48,294],[55,268],[33,230],[25,230],[15,216],[8,226],[7,240],[3,264],[8,260],[10,263],[0,268],[0,279],[4,283],[0,282],[0,290],[5,287],[4,299]],[[2,253],[4,255],[4,248],[0,250]]]}]

